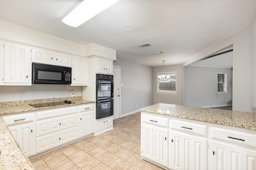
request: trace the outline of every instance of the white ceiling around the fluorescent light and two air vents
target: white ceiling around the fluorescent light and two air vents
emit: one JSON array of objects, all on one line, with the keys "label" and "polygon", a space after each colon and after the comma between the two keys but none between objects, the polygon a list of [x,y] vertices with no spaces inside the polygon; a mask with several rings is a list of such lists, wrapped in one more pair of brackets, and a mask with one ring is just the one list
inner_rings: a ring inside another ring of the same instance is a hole
[{"label": "white ceiling around the fluorescent light and two air vents", "polygon": [[[156,67],[184,63],[250,26],[256,12],[256,0],[120,0],[78,28],[62,23],[80,2],[0,0],[0,19]],[[144,43],[152,46],[136,47]]]}]

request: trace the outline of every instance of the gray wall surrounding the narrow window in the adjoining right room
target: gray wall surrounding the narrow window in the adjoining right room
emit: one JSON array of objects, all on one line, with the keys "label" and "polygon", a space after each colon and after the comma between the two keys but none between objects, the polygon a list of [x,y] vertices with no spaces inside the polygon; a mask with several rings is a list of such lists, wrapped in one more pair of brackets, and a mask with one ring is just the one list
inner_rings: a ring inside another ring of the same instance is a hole
[{"label": "gray wall surrounding the narrow window in the adjoining right room", "polygon": [[[217,93],[217,73],[227,73],[227,93]],[[208,107],[232,104],[232,69],[185,67],[184,105]]]}]

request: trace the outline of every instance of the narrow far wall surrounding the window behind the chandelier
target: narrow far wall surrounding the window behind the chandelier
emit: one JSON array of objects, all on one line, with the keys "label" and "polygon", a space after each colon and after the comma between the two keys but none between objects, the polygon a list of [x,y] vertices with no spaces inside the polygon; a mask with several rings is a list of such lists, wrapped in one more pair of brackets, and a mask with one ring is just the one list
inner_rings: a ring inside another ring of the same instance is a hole
[{"label": "narrow far wall surrounding the window behind the chandelier", "polygon": [[164,66],[165,72],[176,71],[176,94],[174,93],[157,93],[157,82],[158,82],[158,73],[163,72],[163,67],[154,67],[154,104],[156,103],[169,103],[175,105],[182,104],[182,67],[181,65],[168,65]]}]

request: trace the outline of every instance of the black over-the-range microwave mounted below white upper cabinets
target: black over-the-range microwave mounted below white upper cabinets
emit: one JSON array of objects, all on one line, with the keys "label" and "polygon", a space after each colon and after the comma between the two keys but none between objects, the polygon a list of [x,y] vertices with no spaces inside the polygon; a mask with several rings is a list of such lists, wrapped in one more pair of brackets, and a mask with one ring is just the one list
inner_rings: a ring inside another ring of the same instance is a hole
[{"label": "black over-the-range microwave mounted below white upper cabinets", "polygon": [[34,84],[71,84],[70,67],[32,63],[32,68]]}]

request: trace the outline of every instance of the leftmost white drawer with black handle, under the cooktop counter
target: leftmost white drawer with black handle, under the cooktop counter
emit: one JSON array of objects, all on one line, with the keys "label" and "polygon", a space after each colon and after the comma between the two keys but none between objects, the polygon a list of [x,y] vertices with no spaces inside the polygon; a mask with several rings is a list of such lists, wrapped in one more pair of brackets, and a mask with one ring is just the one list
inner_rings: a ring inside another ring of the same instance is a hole
[{"label": "leftmost white drawer with black handle, under the cooktop counter", "polygon": [[2,116],[6,125],[16,125],[20,123],[26,123],[34,121],[34,113],[24,113]]}]

